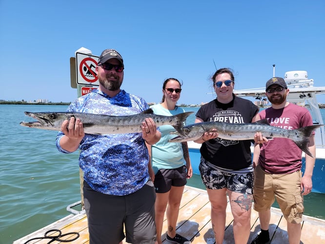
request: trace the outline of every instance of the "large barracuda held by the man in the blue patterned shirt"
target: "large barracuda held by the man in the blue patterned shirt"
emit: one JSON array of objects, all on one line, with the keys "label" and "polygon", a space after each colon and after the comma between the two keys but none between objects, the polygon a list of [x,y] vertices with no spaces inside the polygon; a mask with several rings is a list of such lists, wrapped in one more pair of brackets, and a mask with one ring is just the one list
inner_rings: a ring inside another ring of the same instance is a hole
[{"label": "large barracuda held by the man in the blue patterned shirt", "polygon": [[183,135],[183,126],[186,118],[193,112],[185,112],[175,116],[153,114],[147,109],[140,114],[125,116],[110,116],[101,114],[76,112],[24,112],[37,120],[37,122],[20,122],[20,125],[31,128],[61,131],[61,124],[71,117],[79,118],[83,124],[84,132],[88,134],[126,134],[142,132],[142,122],[145,118],[152,118],[156,126],[172,125],[180,135]]}]

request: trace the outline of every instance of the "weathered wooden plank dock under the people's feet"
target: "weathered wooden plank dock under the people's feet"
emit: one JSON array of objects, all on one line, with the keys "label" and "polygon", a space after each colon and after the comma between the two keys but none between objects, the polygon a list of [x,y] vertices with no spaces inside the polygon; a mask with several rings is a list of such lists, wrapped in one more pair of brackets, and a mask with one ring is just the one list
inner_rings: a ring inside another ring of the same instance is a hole
[{"label": "weathered wooden plank dock under the people's feet", "polygon": [[[186,237],[193,244],[214,244],[215,239],[211,226],[210,218],[211,205],[205,190],[185,186],[183,198],[180,205],[180,212],[177,223],[177,233]],[[230,211],[230,204],[227,206],[227,217],[225,224],[225,234],[223,244],[234,244],[233,238],[233,218]],[[61,220],[49,224],[25,237],[20,238],[13,244],[24,244],[30,239],[44,237],[44,233],[51,229],[61,230],[62,235],[69,232],[78,232],[79,237],[70,244],[89,244],[89,234],[87,227],[87,217],[84,213],[70,214]],[[163,243],[169,244],[165,240],[167,230],[167,221],[163,223]],[[260,223],[258,213],[252,209],[251,231],[248,243],[260,232]],[[288,243],[286,232],[286,221],[282,216],[281,210],[272,208],[269,233],[272,244]],[[52,233],[58,234],[58,233]],[[77,235],[67,235],[62,237],[64,240],[71,240]],[[51,239],[38,239],[28,242],[28,244],[47,244]],[[53,244],[62,242],[53,241]],[[125,244],[123,240],[123,244]],[[303,217],[301,244],[319,244],[325,243],[325,220],[309,216]]]}]

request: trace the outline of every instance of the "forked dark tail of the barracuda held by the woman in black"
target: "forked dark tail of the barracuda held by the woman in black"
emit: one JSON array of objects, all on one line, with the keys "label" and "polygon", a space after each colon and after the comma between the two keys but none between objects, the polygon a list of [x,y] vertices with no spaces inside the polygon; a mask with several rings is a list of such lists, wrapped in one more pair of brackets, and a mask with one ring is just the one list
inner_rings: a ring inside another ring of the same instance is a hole
[{"label": "forked dark tail of the barracuda held by the woman in black", "polygon": [[292,141],[295,142],[296,145],[305,152],[305,154],[309,155],[312,158],[315,157],[308,149],[309,138],[311,137],[312,132],[321,126],[323,126],[323,124],[305,126],[294,130],[296,137]]}]

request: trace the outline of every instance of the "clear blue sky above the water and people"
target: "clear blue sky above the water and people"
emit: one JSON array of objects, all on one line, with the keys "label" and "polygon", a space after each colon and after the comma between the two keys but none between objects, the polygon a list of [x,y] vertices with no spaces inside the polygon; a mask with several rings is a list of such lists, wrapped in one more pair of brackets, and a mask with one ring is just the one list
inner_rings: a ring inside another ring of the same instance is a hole
[{"label": "clear blue sky above the water and people", "polygon": [[[208,78],[230,67],[235,89],[306,70],[324,86],[324,0],[0,0],[0,99],[71,102],[70,57],[81,47],[124,59],[122,89],[160,102],[166,78],[179,104],[208,102]],[[325,103],[325,95],[318,96]]]}]

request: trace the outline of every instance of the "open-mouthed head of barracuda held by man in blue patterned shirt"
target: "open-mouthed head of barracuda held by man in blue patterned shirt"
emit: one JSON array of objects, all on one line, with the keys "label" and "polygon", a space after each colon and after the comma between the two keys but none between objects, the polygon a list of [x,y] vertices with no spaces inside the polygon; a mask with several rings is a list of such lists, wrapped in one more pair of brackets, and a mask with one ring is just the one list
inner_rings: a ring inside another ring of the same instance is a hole
[{"label": "open-mouthed head of barracuda held by man in blue patterned shirt", "polygon": [[[68,119],[67,113],[56,113],[56,112],[39,112],[31,113],[24,112],[27,116],[36,119],[37,121],[33,122],[20,122],[20,125],[39,128],[39,129],[48,129],[48,130],[60,130],[61,124],[64,120]],[[71,116],[70,116],[71,117]]]}]

